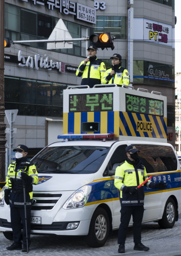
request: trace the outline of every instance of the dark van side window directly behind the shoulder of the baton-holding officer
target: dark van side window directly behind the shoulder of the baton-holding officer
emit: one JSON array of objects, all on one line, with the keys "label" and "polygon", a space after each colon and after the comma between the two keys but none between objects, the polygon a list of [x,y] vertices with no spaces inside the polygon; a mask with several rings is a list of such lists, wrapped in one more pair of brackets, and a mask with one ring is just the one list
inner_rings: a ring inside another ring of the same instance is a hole
[{"label": "dark van side window directly behind the shoulder of the baton-holding officer", "polygon": [[154,145],[140,145],[136,144],[138,152],[138,158],[143,162],[147,173],[159,172],[159,164],[157,161],[157,154],[154,149]]}]

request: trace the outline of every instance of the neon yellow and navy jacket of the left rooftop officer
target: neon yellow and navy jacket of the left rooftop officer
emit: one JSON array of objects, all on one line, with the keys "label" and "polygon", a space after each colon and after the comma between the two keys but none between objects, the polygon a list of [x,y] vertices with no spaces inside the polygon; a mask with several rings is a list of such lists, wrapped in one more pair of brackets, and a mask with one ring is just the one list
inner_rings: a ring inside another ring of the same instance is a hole
[{"label": "neon yellow and navy jacket of the left rooftop officer", "polygon": [[95,58],[87,62],[84,66],[84,60],[76,71],[76,76],[82,76],[81,85],[88,85],[92,88],[95,84],[103,83],[103,77],[106,73],[106,67],[102,60]]}]

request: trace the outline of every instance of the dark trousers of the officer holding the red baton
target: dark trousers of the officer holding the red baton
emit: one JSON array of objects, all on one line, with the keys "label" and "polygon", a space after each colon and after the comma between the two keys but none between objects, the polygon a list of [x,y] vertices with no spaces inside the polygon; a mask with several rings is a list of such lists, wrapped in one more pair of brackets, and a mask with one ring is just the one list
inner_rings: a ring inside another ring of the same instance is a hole
[{"label": "dark trousers of the officer holding the red baton", "polygon": [[125,244],[131,215],[133,217],[133,238],[135,244],[141,243],[141,222],[143,219],[143,206],[122,206],[121,207],[121,224],[118,232],[118,244]]}]

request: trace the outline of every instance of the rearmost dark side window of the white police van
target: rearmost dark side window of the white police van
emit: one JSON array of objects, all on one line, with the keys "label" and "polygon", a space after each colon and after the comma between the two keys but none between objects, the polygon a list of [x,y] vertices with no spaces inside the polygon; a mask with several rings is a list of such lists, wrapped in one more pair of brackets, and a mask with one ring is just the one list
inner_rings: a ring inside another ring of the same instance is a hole
[{"label": "rearmost dark side window of the white police van", "polygon": [[160,172],[177,170],[177,159],[171,147],[154,145],[154,148],[157,153]]}]

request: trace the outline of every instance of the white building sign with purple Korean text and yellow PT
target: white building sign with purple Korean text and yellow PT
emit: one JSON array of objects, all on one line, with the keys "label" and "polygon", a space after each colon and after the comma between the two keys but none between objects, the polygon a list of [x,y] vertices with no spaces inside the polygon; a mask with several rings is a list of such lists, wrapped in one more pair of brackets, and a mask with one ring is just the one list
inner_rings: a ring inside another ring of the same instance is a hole
[{"label": "white building sign with purple Korean text and yellow PT", "polygon": [[134,40],[172,46],[172,26],[148,19],[134,19]]}]

